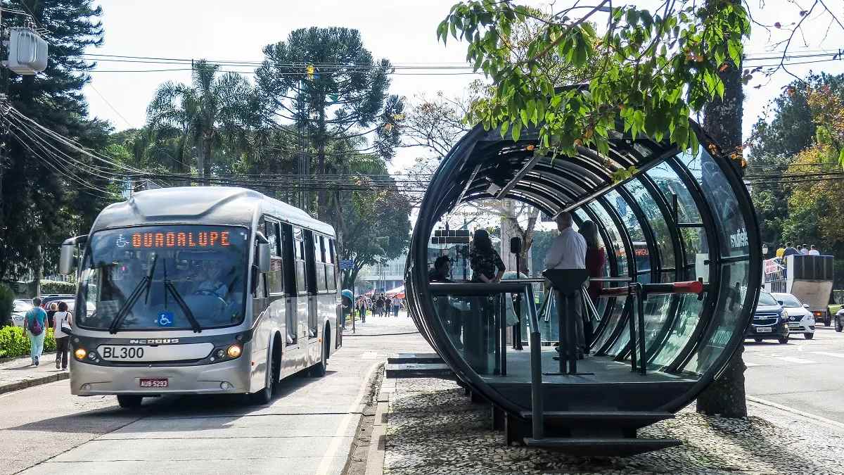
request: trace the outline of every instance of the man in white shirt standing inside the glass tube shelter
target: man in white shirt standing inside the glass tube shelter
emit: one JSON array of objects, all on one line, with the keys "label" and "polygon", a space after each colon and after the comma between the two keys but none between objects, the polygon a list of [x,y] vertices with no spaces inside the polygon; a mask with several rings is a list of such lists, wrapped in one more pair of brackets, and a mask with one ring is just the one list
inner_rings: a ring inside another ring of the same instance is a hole
[{"label": "man in white shirt standing inside the glass tube shelter", "polygon": [[[546,269],[586,269],[586,239],[583,238],[581,233],[576,232],[571,224],[571,213],[563,211],[557,216],[557,229],[560,231],[560,235],[554,238],[548,254],[545,255]],[[556,305],[565,305],[565,301],[561,298],[559,292],[555,295],[555,298]],[[583,337],[581,308],[582,298],[580,292],[578,292],[575,298],[575,314],[569,315],[569,318],[575,319],[578,359],[583,358],[583,348],[586,346]]]}]

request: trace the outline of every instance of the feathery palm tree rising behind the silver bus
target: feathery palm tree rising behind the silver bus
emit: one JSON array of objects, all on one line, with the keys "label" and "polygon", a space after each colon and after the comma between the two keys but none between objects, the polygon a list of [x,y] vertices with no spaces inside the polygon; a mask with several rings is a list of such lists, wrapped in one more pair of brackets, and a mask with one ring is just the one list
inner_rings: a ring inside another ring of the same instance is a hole
[{"label": "feathery palm tree rising behind the silver bus", "polygon": [[196,152],[197,170],[208,183],[214,149],[219,145],[245,146],[256,117],[252,86],[236,73],[219,74],[219,64],[193,64],[192,85],[167,81],[147,106],[148,127],[180,134],[176,161],[185,162],[189,143]]}]

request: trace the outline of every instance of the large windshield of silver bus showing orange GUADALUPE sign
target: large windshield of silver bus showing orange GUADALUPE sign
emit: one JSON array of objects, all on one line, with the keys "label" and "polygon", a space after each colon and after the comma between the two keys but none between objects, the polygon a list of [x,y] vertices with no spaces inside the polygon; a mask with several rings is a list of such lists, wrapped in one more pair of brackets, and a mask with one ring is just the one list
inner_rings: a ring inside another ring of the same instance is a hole
[{"label": "large windshield of silver bus showing orange GUADALUPE sign", "polygon": [[79,282],[77,325],[202,330],[244,319],[243,227],[166,225],[95,232]]}]

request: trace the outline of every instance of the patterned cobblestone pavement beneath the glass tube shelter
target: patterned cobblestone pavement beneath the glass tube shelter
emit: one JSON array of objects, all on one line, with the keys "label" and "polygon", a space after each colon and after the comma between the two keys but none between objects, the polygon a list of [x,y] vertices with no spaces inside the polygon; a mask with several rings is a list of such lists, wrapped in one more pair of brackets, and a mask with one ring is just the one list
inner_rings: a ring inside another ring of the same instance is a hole
[{"label": "patterned cobblestone pavement beneath the glass tube shelter", "polygon": [[697,414],[641,429],[683,445],[631,457],[579,458],[507,447],[490,409],[442,379],[398,379],[390,402],[384,473],[844,473],[844,430],[749,404],[749,418]]}]

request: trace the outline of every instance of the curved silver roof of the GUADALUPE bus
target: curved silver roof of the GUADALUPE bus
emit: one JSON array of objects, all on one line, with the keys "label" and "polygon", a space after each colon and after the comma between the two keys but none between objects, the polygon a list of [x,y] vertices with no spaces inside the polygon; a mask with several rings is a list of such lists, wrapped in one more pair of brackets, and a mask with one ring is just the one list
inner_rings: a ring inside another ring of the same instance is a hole
[{"label": "curved silver roof of the GUADALUPE bus", "polygon": [[174,187],[141,191],[102,210],[91,232],[147,224],[219,224],[251,228],[262,214],[334,236],[333,227],[305,211],[257,191],[236,187]]}]

